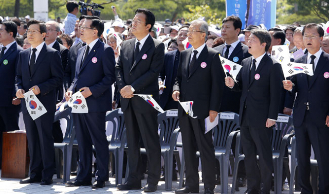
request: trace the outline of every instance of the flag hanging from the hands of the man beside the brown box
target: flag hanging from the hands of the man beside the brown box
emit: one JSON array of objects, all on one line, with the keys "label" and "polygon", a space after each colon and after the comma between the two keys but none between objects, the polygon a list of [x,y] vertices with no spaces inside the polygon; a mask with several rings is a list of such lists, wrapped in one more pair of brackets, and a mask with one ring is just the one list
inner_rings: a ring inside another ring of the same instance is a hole
[{"label": "flag hanging from the hands of the man beside the brown box", "polygon": [[39,99],[36,98],[32,90],[24,94],[24,99],[25,99],[26,109],[33,120],[47,113],[46,108],[39,101]]}]

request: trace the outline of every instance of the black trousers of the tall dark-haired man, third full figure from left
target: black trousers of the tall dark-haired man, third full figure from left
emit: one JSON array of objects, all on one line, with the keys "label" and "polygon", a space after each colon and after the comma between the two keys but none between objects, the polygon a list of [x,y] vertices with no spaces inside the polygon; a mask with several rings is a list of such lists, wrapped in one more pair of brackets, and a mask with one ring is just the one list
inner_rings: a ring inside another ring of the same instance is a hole
[{"label": "black trousers of the tall dark-haired man, third full figure from left", "polygon": [[158,135],[157,112],[140,114],[134,111],[131,103],[123,112],[127,144],[129,175],[128,182],[141,180],[140,136],[148,156],[148,183],[158,184],[161,173],[161,148]]}]

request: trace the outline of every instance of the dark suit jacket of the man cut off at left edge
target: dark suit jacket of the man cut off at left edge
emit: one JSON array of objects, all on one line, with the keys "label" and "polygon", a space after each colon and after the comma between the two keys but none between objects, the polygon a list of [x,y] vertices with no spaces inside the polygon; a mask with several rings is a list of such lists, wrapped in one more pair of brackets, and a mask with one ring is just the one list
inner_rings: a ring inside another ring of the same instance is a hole
[{"label": "dark suit jacket of the man cut off at left edge", "polygon": [[16,96],[16,68],[17,62],[19,61],[19,53],[22,50],[23,48],[18,46],[15,42],[0,59],[0,87],[2,89],[2,94],[0,95],[0,107],[9,107],[12,104],[12,98]]}]

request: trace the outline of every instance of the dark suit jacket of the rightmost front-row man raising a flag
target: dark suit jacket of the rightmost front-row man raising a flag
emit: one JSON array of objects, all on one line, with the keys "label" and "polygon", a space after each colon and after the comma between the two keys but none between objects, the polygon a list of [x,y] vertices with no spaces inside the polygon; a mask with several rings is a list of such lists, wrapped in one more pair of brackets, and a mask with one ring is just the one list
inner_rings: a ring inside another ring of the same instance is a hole
[{"label": "dark suit jacket of the rightmost front-row man raising a flag", "polygon": [[[307,55],[298,58],[296,63],[307,63]],[[306,103],[309,103],[309,113],[314,123],[319,127],[324,127],[326,116],[329,115],[329,78],[324,74],[329,73],[329,55],[322,51],[314,76],[310,76],[308,85],[306,74],[297,74],[291,78],[295,84],[292,95],[297,97],[294,104],[294,125],[302,125],[306,112]]]}]

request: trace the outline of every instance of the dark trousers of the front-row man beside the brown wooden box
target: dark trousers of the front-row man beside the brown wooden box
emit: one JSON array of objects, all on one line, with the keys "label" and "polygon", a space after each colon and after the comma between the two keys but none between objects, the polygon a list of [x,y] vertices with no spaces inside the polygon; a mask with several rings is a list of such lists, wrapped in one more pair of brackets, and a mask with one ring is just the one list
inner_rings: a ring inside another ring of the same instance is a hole
[{"label": "dark trousers of the front-row man beside the brown wooden box", "polygon": [[35,120],[28,113],[23,113],[30,153],[30,172],[36,173],[43,180],[52,179],[54,170],[53,118],[54,112],[47,112]]}]

